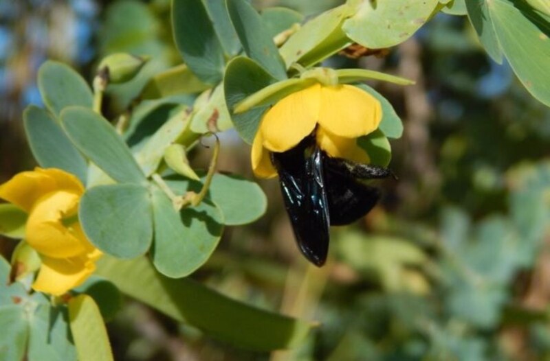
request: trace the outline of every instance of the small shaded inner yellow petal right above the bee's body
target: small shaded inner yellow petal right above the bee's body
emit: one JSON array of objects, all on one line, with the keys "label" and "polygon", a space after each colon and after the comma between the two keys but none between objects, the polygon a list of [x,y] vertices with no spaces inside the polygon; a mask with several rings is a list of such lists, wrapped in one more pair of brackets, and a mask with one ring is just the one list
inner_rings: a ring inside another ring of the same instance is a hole
[{"label": "small shaded inner yellow petal right above the bee's body", "polygon": [[344,158],[355,163],[371,163],[367,154],[358,144],[357,139],[338,137],[319,127],[317,129],[317,144],[329,156]]}]

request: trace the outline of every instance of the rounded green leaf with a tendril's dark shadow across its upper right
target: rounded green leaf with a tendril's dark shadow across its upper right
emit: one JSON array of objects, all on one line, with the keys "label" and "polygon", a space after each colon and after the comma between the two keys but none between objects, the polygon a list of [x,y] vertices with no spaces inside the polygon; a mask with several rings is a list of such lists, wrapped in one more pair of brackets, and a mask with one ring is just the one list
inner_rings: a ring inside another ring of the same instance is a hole
[{"label": "rounded green leaf with a tendril's dark shadow across its upper right", "polygon": [[185,277],[202,266],[223,231],[223,216],[214,205],[203,201],[178,212],[159,189],[153,191],[153,217],[151,259],[155,268],[168,277]]}]

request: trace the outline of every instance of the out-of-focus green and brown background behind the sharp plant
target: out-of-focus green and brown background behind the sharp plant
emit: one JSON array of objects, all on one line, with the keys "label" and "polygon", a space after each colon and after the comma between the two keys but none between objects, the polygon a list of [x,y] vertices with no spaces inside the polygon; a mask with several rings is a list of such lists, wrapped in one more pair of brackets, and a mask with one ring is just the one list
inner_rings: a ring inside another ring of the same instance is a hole
[{"label": "out-of-focus green and brown background behind the sharp plant", "polygon": [[[340,1],[341,2],[341,1]],[[313,16],[331,0],[253,1]],[[34,167],[21,113],[41,102],[47,59],[93,78],[113,51],[150,54],[129,84],[111,86],[107,117],[126,109],[157,71],[181,62],[170,1],[0,0],[0,183]],[[467,20],[438,14],[364,67],[417,81],[373,82],[404,120],[380,205],[334,227],[331,259],[308,266],[294,244],[276,180],[259,182],[267,214],[225,231],[192,277],[237,299],[320,322],[293,352],[251,353],[203,336],[131,300],[108,324],[116,360],[550,360],[550,111],[509,65],[478,45]],[[162,121],[162,119],[160,119]],[[221,135],[219,170],[252,178],[250,147]],[[205,167],[209,151],[190,161]],[[243,200],[245,201],[245,200]],[[14,243],[0,238],[10,256]]]}]

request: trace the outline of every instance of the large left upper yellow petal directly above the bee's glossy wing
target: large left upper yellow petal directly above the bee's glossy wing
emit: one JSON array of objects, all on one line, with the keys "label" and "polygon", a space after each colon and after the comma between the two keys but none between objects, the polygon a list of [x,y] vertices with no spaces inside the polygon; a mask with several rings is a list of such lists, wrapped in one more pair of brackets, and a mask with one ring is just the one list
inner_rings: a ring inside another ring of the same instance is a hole
[{"label": "large left upper yellow petal directly above the bee's glossy wing", "polygon": [[267,110],[259,129],[265,148],[285,152],[314,130],[321,107],[320,90],[320,84],[314,84],[284,97]]}]

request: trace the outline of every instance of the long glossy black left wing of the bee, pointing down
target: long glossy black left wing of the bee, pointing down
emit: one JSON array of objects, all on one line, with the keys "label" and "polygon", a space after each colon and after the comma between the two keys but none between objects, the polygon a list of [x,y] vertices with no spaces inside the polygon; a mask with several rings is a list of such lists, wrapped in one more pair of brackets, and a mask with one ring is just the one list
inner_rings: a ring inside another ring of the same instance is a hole
[{"label": "long glossy black left wing of the bee, pointing down", "polygon": [[329,251],[329,212],[322,154],[305,139],[292,150],[273,153],[285,207],[300,251],[322,266]]}]

